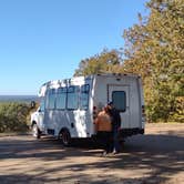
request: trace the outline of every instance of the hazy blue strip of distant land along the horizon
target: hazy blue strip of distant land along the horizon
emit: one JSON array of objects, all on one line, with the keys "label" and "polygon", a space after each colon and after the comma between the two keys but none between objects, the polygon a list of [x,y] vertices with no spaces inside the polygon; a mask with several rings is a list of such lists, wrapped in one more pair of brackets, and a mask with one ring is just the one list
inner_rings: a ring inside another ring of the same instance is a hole
[{"label": "hazy blue strip of distant land along the horizon", "polygon": [[0,102],[31,102],[39,101],[37,95],[0,95]]}]

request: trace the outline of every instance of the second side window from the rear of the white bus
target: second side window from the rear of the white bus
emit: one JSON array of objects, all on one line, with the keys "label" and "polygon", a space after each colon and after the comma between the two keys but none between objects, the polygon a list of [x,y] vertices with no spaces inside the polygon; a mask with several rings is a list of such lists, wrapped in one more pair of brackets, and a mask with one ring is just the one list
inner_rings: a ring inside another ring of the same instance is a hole
[{"label": "second side window from the rear of the white bus", "polygon": [[72,85],[68,88],[68,102],[67,108],[69,110],[76,110],[79,108],[79,91],[78,85]]}]

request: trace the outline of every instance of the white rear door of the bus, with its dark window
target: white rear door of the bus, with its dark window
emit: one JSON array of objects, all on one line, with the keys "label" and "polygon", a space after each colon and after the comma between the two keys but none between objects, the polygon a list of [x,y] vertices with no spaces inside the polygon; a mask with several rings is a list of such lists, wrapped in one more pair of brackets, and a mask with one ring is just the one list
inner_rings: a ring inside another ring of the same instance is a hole
[{"label": "white rear door of the bus, with its dark window", "polygon": [[129,85],[108,85],[108,100],[112,101],[121,114],[121,127],[130,127],[130,86]]}]

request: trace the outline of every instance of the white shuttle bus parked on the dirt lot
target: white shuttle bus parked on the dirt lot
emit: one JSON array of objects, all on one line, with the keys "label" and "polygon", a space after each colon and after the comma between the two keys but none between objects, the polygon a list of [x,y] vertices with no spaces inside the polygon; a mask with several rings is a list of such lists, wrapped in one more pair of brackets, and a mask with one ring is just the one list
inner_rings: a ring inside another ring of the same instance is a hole
[{"label": "white shuttle bus parked on the dirt lot", "polygon": [[31,114],[32,134],[53,135],[69,145],[72,139],[96,135],[94,120],[112,101],[121,115],[120,139],[144,133],[142,82],[134,74],[95,74],[55,80],[39,91],[40,108]]}]

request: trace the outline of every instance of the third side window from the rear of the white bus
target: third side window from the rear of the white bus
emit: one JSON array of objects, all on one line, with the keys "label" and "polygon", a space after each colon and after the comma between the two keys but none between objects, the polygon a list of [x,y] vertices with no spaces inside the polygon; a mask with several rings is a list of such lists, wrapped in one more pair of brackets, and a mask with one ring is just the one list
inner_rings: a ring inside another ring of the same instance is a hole
[{"label": "third side window from the rear of the white bus", "polygon": [[64,110],[67,102],[67,88],[59,88],[57,91],[57,109]]}]

